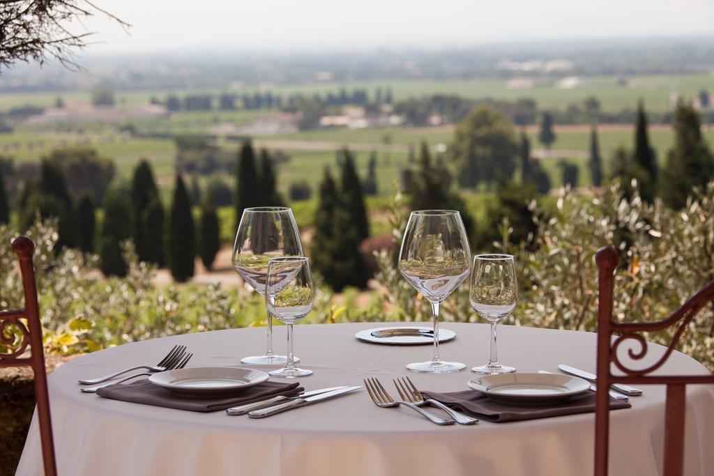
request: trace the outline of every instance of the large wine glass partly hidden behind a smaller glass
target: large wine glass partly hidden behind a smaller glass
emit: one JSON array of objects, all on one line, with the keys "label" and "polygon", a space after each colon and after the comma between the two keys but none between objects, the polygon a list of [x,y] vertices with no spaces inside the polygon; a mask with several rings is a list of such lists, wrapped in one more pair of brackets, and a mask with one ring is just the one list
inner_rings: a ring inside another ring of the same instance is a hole
[{"label": "large wine glass partly hidden behind a smaller glass", "polygon": [[[284,255],[302,255],[298,226],[287,207],[246,208],[233,245],[233,268],[261,295],[265,293],[268,260]],[[268,309],[268,346],[265,355],[251,355],[242,363],[273,365],[287,362],[273,354],[273,318]],[[300,359],[296,358],[296,361]]]}]

